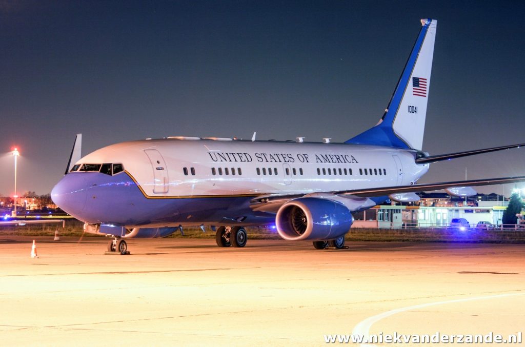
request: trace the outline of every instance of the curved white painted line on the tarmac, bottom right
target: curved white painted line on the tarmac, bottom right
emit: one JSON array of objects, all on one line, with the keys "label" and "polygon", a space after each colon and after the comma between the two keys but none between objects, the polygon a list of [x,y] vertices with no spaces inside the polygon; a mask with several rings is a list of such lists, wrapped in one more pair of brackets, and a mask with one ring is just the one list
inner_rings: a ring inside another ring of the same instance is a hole
[{"label": "curved white painted line on the tarmac, bottom right", "polygon": [[[474,298],[465,298],[465,299],[456,299],[456,300],[447,300],[447,301],[438,301],[438,302],[427,302],[427,303],[422,303],[419,305],[402,307],[402,308],[386,311],[380,314],[376,314],[375,316],[362,320],[357,325],[355,325],[354,329],[352,330],[352,334],[354,336],[362,335],[364,337],[363,340],[367,341],[367,339],[370,338],[370,328],[372,327],[372,324],[382,320],[383,318],[393,316],[396,313],[411,311],[415,309],[421,309],[421,308],[429,307],[429,306],[443,305],[447,303],[515,297],[515,296],[520,296],[520,295],[525,295],[525,293],[498,294],[498,295],[490,295],[486,297],[474,297]],[[362,343],[361,346],[362,347],[377,347],[375,344],[367,344],[367,343]]]}]

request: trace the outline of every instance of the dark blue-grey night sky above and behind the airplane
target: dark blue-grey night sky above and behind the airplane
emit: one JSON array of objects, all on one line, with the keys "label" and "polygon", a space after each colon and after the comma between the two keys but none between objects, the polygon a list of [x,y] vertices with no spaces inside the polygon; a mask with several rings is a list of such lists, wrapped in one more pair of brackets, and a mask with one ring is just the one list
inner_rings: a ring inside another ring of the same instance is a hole
[{"label": "dark blue-grey night sky above and behind the airplane", "polygon": [[[348,140],[380,119],[426,17],[423,150],[525,142],[524,14],[523,1],[2,0],[0,196],[14,193],[14,145],[18,193],[46,194],[76,133],[83,155],[174,135]],[[419,182],[465,167],[524,175],[525,149],[431,164]]]}]

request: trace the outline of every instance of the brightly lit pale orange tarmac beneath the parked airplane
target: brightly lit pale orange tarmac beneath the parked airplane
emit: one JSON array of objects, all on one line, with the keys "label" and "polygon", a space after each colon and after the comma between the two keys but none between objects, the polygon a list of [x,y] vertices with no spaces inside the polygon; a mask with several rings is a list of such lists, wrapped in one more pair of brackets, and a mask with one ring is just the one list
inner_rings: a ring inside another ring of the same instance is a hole
[{"label": "brightly lit pale orange tarmac beneath the parked airplane", "polygon": [[120,256],[104,254],[107,241],[0,236],[0,344],[316,346],[352,332],[525,331],[525,245],[131,239]]}]

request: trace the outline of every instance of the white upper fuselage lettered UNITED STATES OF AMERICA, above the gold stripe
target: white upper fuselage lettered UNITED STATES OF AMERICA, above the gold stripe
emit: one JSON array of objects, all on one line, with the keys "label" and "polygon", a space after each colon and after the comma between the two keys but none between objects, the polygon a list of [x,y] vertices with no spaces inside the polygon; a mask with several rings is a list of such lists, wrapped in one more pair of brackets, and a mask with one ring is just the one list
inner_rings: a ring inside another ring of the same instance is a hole
[{"label": "white upper fuselage lettered UNITED STATES OF AMERICA, above the gold stripe", "polygon": [[148,198],[256,196],[411,184],[428,171],[415,155],[371,145],[159,139],[113,144],[77,164],[122,163]]}]

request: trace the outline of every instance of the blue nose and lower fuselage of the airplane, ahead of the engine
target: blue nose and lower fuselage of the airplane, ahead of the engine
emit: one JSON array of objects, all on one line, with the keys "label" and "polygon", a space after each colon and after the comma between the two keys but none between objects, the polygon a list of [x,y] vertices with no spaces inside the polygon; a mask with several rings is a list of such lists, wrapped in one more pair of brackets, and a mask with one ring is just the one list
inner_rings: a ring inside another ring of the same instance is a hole
[{"label": "blue nose and lower fuselage of the airplane, ahead of the engine", "polygon": [[69,173],[51,192],[53,201],[71,216],[89,224],[125,227],[171,225],[267,225],[275,215],[254,212],[253,197],[146,197],[125,172]]}]

